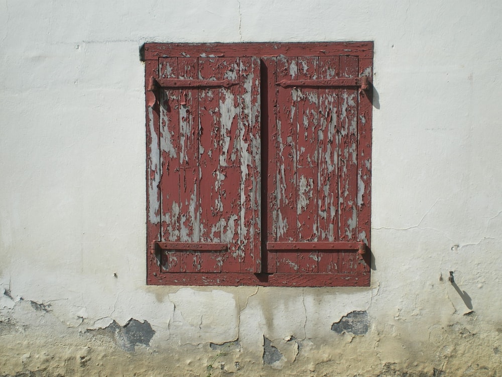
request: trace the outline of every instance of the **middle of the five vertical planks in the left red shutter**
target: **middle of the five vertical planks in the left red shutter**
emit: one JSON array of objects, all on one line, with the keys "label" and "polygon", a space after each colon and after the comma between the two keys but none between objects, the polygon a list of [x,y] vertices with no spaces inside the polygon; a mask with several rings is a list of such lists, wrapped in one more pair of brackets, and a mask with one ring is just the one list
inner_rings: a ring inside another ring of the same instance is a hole
[{"label": "middle of the five vertical planks in the left red shutter", "polygon": [[[199,58],[199,79],[220,79],[218,58]],[[220,154],[219,89],[199,89],[199,182],[200,190],[200,241],[220,242]],[[201,272],[219,272],[221,253],[200,253]]]}]

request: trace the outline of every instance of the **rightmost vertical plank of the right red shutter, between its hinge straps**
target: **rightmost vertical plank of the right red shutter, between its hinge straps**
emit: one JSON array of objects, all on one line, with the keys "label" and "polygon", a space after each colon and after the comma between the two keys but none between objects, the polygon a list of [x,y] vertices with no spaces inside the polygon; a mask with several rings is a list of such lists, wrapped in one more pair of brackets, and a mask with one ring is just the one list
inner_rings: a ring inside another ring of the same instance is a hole
[{"label": "rightmost vertical plank of the right red shutter, between its hinge straps", "polygon": [[[356,77],[359,61],[356,56],[340,57],[340,77]],[[353,241],[357,237],[357,102],[358,92],[340,89],[339,119],[339,239]],[[355,252],[341,251],[338,258],[340,273],[354,273],[357,267]]]}]

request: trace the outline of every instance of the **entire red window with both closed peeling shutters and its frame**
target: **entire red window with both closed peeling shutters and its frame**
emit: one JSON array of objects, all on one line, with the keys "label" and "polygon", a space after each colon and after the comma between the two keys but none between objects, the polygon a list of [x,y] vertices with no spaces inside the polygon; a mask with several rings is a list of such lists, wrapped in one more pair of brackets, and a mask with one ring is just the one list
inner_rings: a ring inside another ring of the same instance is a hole
[{"label": "entire red window with both closed peeling shutters and its frame", "polygon": [[145,59],[149,284],[369,285],[372,43]]}]

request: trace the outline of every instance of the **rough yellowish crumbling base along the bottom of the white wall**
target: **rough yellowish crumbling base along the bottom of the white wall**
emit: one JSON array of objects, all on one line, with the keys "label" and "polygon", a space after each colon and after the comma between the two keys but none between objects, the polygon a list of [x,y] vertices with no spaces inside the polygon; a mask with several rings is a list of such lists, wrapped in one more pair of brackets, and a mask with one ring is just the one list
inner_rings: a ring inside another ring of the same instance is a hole
[{"label": "rough yellowish crumbling base along the bottom of the white wall", "polygon": [[502,372],[498,334],[478,333],[475,313],[431,326],[422,343],[406,343],[400,331],[412,327],[398,325],[381,335],[385,325],[356,311],[334,322],[335,329],[326,326],[331,335],[324,339],[263,336],[260,354],[239,339],[166,340],[153,346],[156,333],[147,321],[131,319],[123,326],[113,321],[98,329],[86,328],[84,321],[69,327],[48,305],[17,300],[11,306],[0,311],[0,376],[491,377]]}]

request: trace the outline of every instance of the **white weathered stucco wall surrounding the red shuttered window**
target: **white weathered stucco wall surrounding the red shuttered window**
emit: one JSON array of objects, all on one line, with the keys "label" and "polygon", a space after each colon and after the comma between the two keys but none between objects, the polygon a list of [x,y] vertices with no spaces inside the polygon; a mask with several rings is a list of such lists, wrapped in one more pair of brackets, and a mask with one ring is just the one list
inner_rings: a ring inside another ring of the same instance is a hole
[{"label": "white weathered stucco wall surrounding the red shuttered window", "polygon": [[[502,373],[501,22],[494,0],[5,0],[0,375]],[[140,46],[351,40],[375,48],[371,288],[147,287]]]}]

